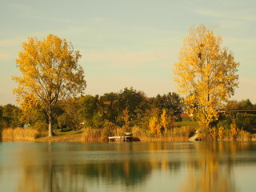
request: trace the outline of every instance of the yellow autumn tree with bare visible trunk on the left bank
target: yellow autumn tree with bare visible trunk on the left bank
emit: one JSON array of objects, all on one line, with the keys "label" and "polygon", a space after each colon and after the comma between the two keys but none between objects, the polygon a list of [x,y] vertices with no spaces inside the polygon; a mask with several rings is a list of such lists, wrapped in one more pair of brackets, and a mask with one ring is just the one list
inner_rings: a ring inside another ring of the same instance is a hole
[{"label": "yellow autumn tree with bare visible trunk on the left bank", "polygon": [[38,104],[46,110],[49,136],[52,136],[54,107],[58,101],[74,97],[86,88],[79,58],[79,51],[70,42],[53,34],[42,41],[29,38],[18,54],[16,63],[22,76],[13,77],[18,82],[14,94],[22,110]]}]

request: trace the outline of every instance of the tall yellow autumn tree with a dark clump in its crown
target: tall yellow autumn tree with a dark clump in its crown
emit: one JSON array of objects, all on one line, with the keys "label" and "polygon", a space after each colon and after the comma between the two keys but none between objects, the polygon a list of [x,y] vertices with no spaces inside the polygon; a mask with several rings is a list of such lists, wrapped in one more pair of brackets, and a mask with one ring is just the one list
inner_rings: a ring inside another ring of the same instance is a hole
[{"label": "tall yellow autumn tree with a dark clump in its crown", "polygon": [[190,28],[174,64],[174,81],[184,94],[187,112],[197,114],[203,127],[218,119],[218,107],[234,94],[238,86],[238,62],[232,52],[222,48],[222,38],[206,26]]}]

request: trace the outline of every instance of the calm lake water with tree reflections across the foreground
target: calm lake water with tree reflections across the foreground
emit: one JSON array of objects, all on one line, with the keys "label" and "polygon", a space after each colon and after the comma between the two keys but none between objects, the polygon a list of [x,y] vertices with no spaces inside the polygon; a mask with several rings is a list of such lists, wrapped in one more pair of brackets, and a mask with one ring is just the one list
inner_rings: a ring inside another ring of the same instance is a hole
[{"label": "calm lake water with tree reflections across the foreground", "polygon": [[0,142],[0,191],[256,191],[256,142]]}]

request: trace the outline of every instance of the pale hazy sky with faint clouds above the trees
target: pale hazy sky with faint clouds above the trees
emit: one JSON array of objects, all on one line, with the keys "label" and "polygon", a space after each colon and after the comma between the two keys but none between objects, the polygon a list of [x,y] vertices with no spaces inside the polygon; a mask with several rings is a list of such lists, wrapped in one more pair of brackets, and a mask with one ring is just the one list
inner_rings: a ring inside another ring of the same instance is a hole
[{"label": "pale hazy sky with faint clouds above the trees", "polygon": [[79,50],[86,94],[125,87],[148,97],[177,92],[172,69],[191,26],[205,25],[234,53],[239,88],[232,99],[256,103],[254,0],[1,0],[0,105],[16,105],[11,76],[29,37],[66,38]]}]

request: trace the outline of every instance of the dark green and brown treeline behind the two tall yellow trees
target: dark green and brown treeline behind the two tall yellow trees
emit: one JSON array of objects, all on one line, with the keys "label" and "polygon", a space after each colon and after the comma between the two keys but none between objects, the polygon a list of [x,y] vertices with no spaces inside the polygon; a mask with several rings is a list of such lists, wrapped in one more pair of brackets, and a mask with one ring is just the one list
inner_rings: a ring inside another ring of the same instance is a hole
[{"label": "dark green and brown treeline behind the two tall yellow trees", "polygon": [[[233,100],[227,102],[224,108],[256,109],[256,105],[249,99],[240,102]],[[126,127],[129,130],[130,127],[138,126],[151,127],[151,133],[157,133],[157,130],[171,129],[174,126],[173,122],[182,121],[181,114],[185,113],[185,109],[182,97],[174,92],[149,98],[142,91],[125,88],[118,93],[111,92],[102,96],[84,95],[59,102],[58,107],[54,109],[54,129],[78,130],[82,127],[104,128],[107,125]],[[241,115],[239,118],[241,120]],[[232,120],[229,118],[226,122],[223,121],[222,126],[226,126]],[[248,118],[246,121],[249,121]],[[0,106],[0,128],[18,126],[33,126],[40,131],[47,130],[46,112],[41,106],[33,106],[26,113],[12,104]]]}]

